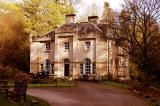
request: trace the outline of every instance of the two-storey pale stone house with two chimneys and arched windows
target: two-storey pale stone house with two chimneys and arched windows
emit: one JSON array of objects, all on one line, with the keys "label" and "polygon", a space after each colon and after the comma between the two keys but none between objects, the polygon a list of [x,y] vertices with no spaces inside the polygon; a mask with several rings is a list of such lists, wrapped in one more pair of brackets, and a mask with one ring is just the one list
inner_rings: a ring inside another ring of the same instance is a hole
[{"label": "two-storey pale stone house with two chimneys and arched windows", "polygon": [[75,23],[66,15],[66,24],[40,36],[30,36],[30,73],[49,72],[54,77],[76,79],[87,75],[128,79],[128,55],[108,39],[105,24],[97,16]]}]

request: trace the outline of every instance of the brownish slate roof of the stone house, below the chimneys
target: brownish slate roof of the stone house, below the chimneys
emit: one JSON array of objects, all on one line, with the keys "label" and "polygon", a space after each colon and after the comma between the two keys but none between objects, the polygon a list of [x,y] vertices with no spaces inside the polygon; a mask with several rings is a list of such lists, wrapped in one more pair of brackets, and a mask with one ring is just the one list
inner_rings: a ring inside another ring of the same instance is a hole
[{"label": "brownish slate roof of the stone house, below the chimneys", "polygon": [[105,34],[105,23],[94,24],[91,22],[81,22],[81,23],[70,23],[64,24],[56,29],[51,30],[43,35],[33,36],[33,40],[41,39],[44,37],[53,37],[56,33],[73,33],[76,32],[79,35],[87,35],[91,32],[97,32],[100,34]]}]

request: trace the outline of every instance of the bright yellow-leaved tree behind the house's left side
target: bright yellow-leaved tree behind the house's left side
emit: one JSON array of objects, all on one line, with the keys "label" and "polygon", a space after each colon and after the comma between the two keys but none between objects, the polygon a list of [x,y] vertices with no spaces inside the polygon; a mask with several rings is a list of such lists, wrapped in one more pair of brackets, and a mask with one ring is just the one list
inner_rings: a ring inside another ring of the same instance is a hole
[{"label": "bright yellow-leaved tree behind the house's left side", "polygon": [[[15,11],[25,18],[26,31],[44,34],[65,23],[64,15],[73,13],[67,0],[22,0],[18,3],[0,2],[3,12]],[[11,8],[13,7],[13,8]]]}]

